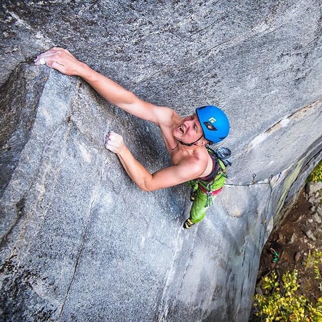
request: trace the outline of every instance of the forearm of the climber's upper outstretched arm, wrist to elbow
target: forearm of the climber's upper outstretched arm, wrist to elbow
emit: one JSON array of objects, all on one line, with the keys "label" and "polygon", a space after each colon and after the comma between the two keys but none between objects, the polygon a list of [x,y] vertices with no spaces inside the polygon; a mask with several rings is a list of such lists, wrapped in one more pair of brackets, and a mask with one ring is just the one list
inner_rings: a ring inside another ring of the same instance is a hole
[{"label": "forearm of the climber's upper outstretched arm, wrist to elbow", "polygon": [[112,79],[100,74],[84,63],[81,63],[77,74],[84,78],[107,101],[131,113],[128,107],[134,104],[137,99],[132,92],[127,91]]}]

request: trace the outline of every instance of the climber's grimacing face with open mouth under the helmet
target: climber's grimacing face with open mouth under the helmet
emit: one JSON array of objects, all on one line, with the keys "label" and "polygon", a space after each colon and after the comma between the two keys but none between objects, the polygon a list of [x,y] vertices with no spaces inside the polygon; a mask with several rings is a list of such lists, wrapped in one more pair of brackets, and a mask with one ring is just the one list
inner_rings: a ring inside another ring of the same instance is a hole
[{"label": "climber's grimacing face with open mouth under the helmet", "polygon": [[195,142],[203,136],[203,131],[196,113],[184,118],[173,130],[173,135],[184,143]]}]

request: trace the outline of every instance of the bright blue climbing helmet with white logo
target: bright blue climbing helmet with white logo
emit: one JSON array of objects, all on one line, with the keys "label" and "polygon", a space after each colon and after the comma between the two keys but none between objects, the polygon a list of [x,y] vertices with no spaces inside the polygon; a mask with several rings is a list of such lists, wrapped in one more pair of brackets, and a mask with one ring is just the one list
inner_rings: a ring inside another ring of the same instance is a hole
[{"label": "bright blue climbing helmet with white logo", "polygon": [[196,114],[201,124],[204,137],[207,140],[212,143],[218,143],[228,135],[228,118],[218,107],[213,105],[198,107]]}]

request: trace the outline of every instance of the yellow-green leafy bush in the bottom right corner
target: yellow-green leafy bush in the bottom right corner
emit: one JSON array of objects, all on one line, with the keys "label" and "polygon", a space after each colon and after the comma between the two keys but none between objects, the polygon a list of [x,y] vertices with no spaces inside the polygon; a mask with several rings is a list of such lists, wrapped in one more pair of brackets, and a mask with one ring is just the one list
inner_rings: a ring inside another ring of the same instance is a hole
[{"label": "yellow-green leafy bush in the bottom right corner", "polygon": [[313,305],[298,295],[297,270],[286,272],[278,281],[275,272],[263,279],[264,294],[254,297],[256,315],[265,322],[322,322],[322,297]]}]

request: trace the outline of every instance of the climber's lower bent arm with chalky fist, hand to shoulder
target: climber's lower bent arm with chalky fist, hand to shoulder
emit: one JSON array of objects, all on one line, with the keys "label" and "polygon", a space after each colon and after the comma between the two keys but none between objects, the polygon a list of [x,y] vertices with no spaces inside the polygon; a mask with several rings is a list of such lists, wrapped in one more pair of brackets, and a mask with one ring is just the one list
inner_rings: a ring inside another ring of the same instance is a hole
[{"label": "climber's lower bent arm with chalky fist, hand to shoulder", "polygon": [[159,170],[151,175],[135,159],[121,135],[111,132],[107,136],[105,147],[117,154],[129,177],[144,191],[172,187],[193,180],[200,177],[207,166],[207,163],[198,162],[195,157],[186,157],[179,165]]}]

